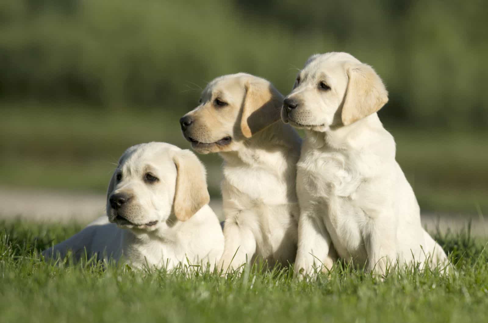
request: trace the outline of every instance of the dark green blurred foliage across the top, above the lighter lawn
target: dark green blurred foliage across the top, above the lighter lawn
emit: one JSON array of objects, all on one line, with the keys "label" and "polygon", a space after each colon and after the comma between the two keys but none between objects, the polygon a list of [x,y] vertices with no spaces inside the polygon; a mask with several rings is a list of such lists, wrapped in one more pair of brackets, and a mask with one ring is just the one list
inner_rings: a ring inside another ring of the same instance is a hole
[{"label": "dark green blurred foliage across the top, above the lighter lawn", "polygon": [[488,125],[484,0],[3,0],[4,101],[190,110],[245,71],[286,93],[316,52],[346,51],[386,81],[386,120]]}]

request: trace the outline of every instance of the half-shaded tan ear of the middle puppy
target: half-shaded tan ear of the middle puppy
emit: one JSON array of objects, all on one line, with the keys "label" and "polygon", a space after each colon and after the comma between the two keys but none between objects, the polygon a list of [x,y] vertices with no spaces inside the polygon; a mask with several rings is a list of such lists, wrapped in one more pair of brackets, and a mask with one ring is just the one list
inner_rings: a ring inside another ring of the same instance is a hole
[{"label": "half-shaded tan ear of the middle puppy", "polygon": [[270,83],[246,82],[241,131],[246,138],[280,120],[283,96]]}]

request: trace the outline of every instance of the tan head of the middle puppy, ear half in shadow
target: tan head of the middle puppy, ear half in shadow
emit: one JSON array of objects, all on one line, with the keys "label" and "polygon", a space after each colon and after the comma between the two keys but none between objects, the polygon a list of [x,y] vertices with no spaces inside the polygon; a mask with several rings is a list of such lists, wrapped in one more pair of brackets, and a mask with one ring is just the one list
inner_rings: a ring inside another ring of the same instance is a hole
[{"label": "tan head of the middle puppy, ear half in shadow", "polygon": [[283,96],[264,79],[238,73],[205,87],[199,105],[180,119],[193,149],[207,154],[235,151],[240,144],[280,120]]}]

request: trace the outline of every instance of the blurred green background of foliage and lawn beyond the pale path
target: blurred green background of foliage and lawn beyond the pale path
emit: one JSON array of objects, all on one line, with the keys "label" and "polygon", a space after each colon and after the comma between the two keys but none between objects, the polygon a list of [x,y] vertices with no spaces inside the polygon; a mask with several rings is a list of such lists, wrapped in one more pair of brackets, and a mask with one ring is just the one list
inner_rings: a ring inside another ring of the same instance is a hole
[{"label": "blurred green background of foliage and lawn beyond the pale path", "polygon": [[[380,117],[425,211],[488,212],[488,2],[2,0],[0,185],[103,192],[128,146],[181,147],[213,78],[286,94],[313,53],[386,82]],[[220,158],[201,156],[213,197]]]}]

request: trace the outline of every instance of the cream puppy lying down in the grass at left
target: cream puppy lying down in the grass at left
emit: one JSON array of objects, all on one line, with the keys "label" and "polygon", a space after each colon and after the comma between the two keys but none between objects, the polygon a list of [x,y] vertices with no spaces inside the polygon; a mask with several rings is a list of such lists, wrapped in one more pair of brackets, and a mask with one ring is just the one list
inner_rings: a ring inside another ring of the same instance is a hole
[{"label": "cream puppy lying down in the grass at left", "polygon": [[86,250],[88,257],[137,268],[213,268],[224,235],[208,202],[205,169],[192,152],[163,142],[138,144],[124,152],[112,176],[107,216],[42,254],[64,257],[72,250],[79,259]]}]

